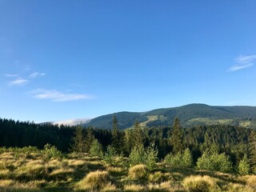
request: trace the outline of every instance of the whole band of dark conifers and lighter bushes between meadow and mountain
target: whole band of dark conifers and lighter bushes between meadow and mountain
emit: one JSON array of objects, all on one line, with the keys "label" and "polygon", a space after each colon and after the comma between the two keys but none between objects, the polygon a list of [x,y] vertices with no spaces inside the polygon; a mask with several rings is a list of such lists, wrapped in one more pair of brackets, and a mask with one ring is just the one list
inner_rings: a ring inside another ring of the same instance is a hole
[{"label": "whole band of dark conifers and lighter bushes between meadow and mountain", "polygon": [[256,162],[255,131],[238,126],[182,129],[178,118],[175,118],[172,126],[141,127],[139,122],[134,122],[132,129],[123,131],[119,130],[115,117],[111,130],[81,125],[38,125],[0,118],[0,146],[36,146],[43,149],[47,143],[64,153],[105,154],[106,158],[122,155],[129,157],[134,164],[163,160],[171,165],[196,164],[202,169],[230,171],[231,165],[238,168],[243,162],[254,167]]}]

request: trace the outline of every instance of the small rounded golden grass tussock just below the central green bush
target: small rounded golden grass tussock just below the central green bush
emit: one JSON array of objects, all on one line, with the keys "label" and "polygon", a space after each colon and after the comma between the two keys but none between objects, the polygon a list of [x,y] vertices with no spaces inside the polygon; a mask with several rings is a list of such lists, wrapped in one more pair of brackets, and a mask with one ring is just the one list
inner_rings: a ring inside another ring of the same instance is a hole
[{"label": "small rounded golden grass tussock just below the central green bush", "polygon": [[146,179],[149,174],[149,169],[146,165],[136,165],[129,169],[129,177],[133,180],[143,180]]}]

